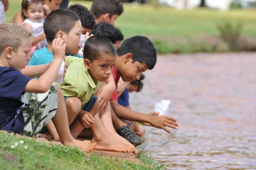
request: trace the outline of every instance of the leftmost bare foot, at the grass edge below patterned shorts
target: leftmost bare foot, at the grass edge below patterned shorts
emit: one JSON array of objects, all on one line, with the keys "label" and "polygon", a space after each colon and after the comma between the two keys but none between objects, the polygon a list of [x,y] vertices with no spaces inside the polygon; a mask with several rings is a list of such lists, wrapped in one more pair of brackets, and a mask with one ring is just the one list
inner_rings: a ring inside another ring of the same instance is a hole
[{"label": "leftmost bare foot, at the grass edge below patterned shorts", "polygon": [[69,142],[64,145],[69,145],[73,147],[77,146],[78,148],[81,148],[82,150],[84,150],[86,153],[89,153],[95,148],[96,143],[88,140],[81,141],[81,140],[74,139],[72,142]]}]

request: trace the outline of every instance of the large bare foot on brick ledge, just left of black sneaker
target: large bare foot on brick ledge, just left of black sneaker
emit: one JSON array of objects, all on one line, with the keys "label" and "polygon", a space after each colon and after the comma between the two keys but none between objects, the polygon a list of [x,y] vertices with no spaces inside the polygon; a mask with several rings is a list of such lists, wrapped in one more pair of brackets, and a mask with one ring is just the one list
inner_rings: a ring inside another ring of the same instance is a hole
[{"label": "large bare foot on brick ledge, just left of black sneaker", "polygon": [[124,144],[119,140],[116,140],[114,136],[104,133],[100,138],[95,136],[92,138],[92,142],[96,142],[97,146],[94,148],[96,150],[107,150],[115,152],[134,152],[134,148],[130,145]]}]

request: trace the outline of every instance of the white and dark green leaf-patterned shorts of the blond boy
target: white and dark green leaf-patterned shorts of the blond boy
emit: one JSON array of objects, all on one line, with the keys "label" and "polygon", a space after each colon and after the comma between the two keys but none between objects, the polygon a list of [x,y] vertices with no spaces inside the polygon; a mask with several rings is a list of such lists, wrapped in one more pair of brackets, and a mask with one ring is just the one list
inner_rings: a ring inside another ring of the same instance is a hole
[{"label": "white and dark green leaf-patterned shorts of the blond boy", "polygon": [[55,115],[58,108],[58,91],[52,85],[48,92],[43,94],[25,93],[22,95],[21,107],[24,116],[23,135],[36,136]]}]

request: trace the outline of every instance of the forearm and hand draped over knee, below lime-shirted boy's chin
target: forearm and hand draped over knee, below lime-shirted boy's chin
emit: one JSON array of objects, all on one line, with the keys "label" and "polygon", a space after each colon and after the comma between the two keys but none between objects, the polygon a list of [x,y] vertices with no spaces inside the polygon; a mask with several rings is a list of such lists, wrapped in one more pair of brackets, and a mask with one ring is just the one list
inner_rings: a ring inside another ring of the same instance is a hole
[{"label": "forearm and hand draped over knee, below lime-shirted boy's chin", "polygon": [[100,102],[100,110],[104,109],[104,111],[106,112],[106,109],[107,109],[106,106],[108,106],[107,105],[108,101],[110,100],[110,97],[114,93],[115,89],[116,89],[116,84],[114,81],[114,77],[111,74],[111,76],[106,81],[106,84],[104,84],[104,86],[99,88],[97,92],[98,101]]}]

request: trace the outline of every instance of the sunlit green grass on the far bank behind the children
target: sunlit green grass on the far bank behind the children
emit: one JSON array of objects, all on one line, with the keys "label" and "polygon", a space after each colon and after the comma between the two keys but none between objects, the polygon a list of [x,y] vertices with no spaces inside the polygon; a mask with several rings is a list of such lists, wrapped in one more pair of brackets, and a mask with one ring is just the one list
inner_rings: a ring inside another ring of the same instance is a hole
[{"label": "sunlit green grass on the far bank behind the children", "polygon": [[[88,9],[91,6],[91,2],[70,1],[70,4],[74,3],[83,4]],[[20,4],[21,0],[10,2],[6,22],[20,10]],[[135,35],[149,37],[158,53],[225,52],[230,49],[219,38],[217,24],[226,20],[241,22],[242,36],[255,38],[254,13],[255,10],[175,10],[169,7],[132,7],[130,4],[124,4],[124,13],[116,20],[116,26],[125,38]]]}]

